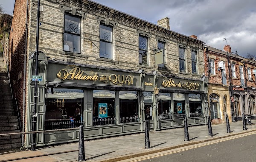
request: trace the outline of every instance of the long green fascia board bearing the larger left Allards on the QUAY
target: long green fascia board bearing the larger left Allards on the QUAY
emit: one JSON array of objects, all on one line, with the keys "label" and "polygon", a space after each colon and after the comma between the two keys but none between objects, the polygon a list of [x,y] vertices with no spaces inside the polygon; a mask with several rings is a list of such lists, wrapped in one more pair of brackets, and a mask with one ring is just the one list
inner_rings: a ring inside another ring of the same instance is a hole
[{"label": "long green fascia board bearing the larger left Allards on the QUAY", "polygon": [[138,86],[139,73],[125,73],[89,67],[49,64],[47,81],[75,82],[85,84],[106,84],[118,86]]}]

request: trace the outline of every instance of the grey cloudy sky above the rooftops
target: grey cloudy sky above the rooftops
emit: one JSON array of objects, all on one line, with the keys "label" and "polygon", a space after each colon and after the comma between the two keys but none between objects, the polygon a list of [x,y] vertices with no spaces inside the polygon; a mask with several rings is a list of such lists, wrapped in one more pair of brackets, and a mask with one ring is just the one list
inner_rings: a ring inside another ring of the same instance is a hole
[{"label": "grey cloudy sky above the rooftops", "polygon": [[[94,0],[105,6],[157,24],[170,18],[170,28],[196,35],[209,46],[223,50],[227,38],[240,56],[256,55],[256,0]],[[12,14],[15,0],[0,0]]]}]

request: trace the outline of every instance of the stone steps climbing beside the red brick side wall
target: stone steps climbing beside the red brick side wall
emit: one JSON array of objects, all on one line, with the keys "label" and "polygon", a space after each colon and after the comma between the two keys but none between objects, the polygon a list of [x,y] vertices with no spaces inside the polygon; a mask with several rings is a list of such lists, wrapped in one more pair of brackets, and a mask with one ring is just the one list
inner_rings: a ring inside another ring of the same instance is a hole
[{"label": "stone steps climbing beside the red brick side wall", "polygon": [[[1,51],[2,49],[0,49]],[[9,83],[3,53],[0,52],[0,134],[18,133],[19,121]],[[20,135],[0,136],[0,149],[21,147]]]}]

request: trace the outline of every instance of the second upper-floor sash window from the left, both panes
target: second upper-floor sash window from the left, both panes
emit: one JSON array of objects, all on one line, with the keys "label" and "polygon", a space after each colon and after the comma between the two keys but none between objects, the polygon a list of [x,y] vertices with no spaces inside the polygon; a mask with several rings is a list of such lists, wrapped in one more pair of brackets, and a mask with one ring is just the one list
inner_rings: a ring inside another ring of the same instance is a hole
[{"label": "second upper-floor sash window from the left, both panes", "polygon": [[100,25],[99,57],[113,59],[113,28]]}]

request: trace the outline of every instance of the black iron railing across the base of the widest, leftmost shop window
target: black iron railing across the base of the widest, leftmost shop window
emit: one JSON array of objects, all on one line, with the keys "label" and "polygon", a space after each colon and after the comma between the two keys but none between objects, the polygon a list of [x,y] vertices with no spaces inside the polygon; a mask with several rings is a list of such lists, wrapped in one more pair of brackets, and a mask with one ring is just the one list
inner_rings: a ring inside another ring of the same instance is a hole
[{"label": "black iron railing across the base of the widest, leftmost shop window", "polygon": [[55,122],[45,121],[45,130],[77,128],[80,125],[84,126],[84,121],[81,121],[81,120],[55,121]]}]

